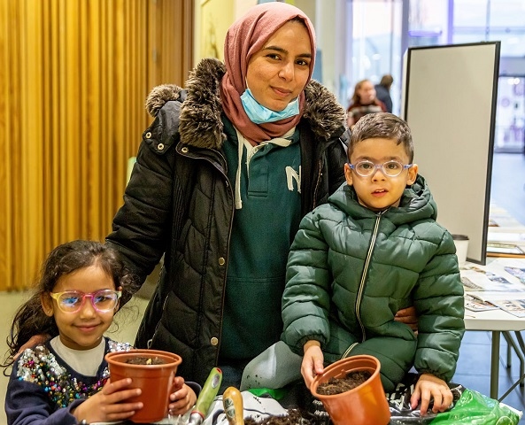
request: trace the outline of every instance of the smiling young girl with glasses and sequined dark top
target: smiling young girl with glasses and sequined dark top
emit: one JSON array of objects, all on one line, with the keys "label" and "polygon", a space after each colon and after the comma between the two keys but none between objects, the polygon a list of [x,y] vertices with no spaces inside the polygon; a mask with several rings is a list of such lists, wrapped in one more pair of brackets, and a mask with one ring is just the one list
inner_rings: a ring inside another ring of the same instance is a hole
[{"label": "smiling young girl with glasses and sequined dark top", "polygon": [[[111,383],[104,360],[107,352],[132,349],[103,336],[120,298],[130,297],[131,283],[118,253],[102,243],[73,241],[50,252],[35,294],[19,308],[8,337],[8,424],[123,421],[143,407],[125,401],[141,390],[130,389],[129,378]],[[50,339],[14,359],[35,334]],[[174,381],[170,413],[183,414],[197,396],[180,376]]]}]

